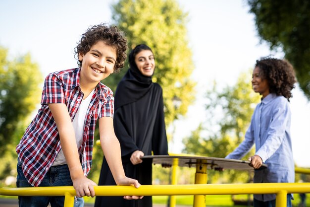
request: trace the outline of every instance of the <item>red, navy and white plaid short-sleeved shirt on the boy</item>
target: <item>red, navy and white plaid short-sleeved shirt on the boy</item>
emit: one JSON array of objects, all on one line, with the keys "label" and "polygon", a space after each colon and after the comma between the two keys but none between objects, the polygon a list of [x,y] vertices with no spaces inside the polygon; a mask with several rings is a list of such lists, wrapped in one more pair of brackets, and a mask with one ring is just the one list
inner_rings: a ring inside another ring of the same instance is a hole
[{"label": "red, navy and white plaid short-sleeved shirt on the boy", "polygon": [[[112,117],[113,92],[99,83],[88,107],[84,124],[83,143],[79,151],[84,175],[92,166],[94,133],[97,119]],[[41,108],[30,123],[16,147],[25,177],[32,186],[39,186],[61,149],[59,133],[47,104],[66,104],[71,121],[83,99],[80,89],[80,69],[67,69],[50,73],[44,84]]]}]

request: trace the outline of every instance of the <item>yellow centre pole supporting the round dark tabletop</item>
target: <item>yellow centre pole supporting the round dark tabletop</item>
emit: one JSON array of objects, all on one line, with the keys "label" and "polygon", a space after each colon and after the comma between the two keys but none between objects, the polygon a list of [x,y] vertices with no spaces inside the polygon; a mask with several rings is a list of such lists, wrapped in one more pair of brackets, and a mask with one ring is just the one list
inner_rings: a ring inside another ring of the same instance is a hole
[{"label": "yellow centre pole supporting the round dark tabletop", "polygon": [[[199,160],[201,161],[201,160]],[[195,184],[207,184],[207,161],[203,160],[196,164]],[[206,196],[194,196],[193,207],[205,207]]]}]

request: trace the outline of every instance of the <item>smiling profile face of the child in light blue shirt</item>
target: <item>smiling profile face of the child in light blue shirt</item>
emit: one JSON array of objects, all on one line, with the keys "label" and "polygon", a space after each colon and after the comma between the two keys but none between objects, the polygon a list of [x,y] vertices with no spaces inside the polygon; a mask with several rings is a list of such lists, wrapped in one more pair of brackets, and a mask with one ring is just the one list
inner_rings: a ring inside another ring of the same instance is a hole
[{"label": "smiling profile face of the child in light blue shirt", "polygon": [[252,88],[255,92],[262,95],[262,97],[266,97],[269,94],[269,85],[266,78],[262,77],[260,69],[256,67],[253,70],[252,75]]}]

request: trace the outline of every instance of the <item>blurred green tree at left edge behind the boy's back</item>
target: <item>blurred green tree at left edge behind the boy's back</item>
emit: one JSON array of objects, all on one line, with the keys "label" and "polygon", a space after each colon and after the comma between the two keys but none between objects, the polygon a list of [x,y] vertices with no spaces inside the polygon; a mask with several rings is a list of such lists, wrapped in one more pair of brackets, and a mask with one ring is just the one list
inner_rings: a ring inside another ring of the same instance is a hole
[{"label": "blurred green tree at left edge behind the boy's back", "polygon": [[0,47],[0,157],[8,145],[18,143],[24,121],[41,97],[42,74],[30,54],[10,61],[7,53]]}]

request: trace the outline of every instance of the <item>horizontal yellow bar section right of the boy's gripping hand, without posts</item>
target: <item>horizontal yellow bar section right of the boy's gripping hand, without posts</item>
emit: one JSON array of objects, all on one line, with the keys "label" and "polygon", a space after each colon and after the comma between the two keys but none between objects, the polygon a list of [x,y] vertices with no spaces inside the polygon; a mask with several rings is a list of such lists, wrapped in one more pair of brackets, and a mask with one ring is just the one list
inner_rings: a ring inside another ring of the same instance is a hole
[{"label": "horizontal yellow bar section right of the boy's gripping hand, without posts", "polygon": [[94,188],[96,196],[277,194],[283,189],[287,193],[310,193],[310,183],[144,185],[137,189],[133,186],[95,186]]}]

